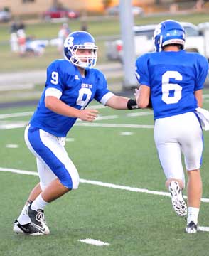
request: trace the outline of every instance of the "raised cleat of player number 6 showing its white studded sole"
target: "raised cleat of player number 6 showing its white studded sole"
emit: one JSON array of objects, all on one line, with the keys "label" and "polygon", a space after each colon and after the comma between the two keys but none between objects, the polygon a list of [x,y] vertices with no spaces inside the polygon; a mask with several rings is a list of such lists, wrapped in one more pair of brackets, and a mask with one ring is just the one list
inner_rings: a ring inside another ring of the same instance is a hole
[{"label": "raised cleat of player number 6 showing its white studded sole", "polygon": [[171,181],[169,185],[169,191],[171,193],[171,203],[173,209],[179,216],[186,216],[187,214],[187,206],[186,202],[183,200],[183,196],[181,193],[181,188],[178,185],[178,182]]}]

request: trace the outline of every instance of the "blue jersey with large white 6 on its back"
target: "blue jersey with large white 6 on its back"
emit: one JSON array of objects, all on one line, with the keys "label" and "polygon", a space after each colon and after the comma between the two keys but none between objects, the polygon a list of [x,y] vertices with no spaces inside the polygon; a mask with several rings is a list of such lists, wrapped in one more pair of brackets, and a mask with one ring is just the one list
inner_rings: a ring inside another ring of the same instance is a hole
[{"label": "blue jersey with large white 6 on its back", "polygon": [[193,112],[194,92],[203,89],[208,61],[185,50],[146,53],[136,60],[136,78],[151,90],[154,119]]}]

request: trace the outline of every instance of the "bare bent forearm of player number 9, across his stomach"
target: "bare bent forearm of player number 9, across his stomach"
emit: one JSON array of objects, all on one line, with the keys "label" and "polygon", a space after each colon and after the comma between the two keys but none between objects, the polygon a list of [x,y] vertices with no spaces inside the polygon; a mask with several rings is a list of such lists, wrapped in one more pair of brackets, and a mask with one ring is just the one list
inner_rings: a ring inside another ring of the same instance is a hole
[{"label": "bare bent forearm of player number 9, across his stomach", "polygon": [[75,107],[68,106],[53,96],[45,97],[45,107],[57,114],[62,114],[66,117],[79,117],[80,113],[80,110],[75,109]]}]

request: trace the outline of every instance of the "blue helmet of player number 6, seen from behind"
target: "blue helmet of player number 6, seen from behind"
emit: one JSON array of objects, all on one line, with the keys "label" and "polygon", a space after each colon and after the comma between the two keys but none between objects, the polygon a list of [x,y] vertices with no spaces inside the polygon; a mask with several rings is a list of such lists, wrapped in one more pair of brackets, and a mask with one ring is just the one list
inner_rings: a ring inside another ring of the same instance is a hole
[{"label": "blue helmet of player number 6, seen from behind", "polygon": [[183,49],[185,43],[185,31],[178,21],[162,21],[154,31],[154,46],[157,52],[168,44],[179,44]]}]

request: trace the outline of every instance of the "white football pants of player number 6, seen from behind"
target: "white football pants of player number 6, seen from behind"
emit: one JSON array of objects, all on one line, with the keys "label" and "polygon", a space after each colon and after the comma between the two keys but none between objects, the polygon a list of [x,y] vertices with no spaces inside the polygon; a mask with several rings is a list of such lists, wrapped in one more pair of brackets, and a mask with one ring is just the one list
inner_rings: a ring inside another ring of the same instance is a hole
[{"label": "white football pants of player number 6, seen from behind", "polygon": [[187,170],[200,168],[203,132],[193,112],[156,119],[154,139],[166,178],[184,181],[181,151]]}]

